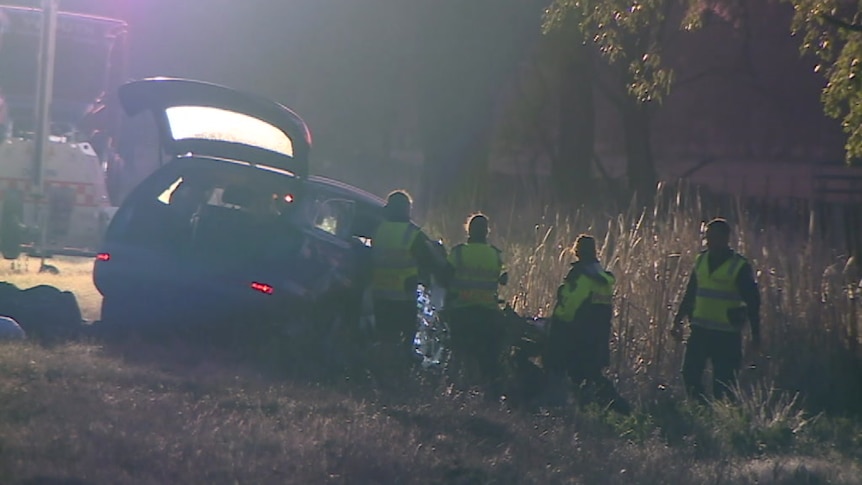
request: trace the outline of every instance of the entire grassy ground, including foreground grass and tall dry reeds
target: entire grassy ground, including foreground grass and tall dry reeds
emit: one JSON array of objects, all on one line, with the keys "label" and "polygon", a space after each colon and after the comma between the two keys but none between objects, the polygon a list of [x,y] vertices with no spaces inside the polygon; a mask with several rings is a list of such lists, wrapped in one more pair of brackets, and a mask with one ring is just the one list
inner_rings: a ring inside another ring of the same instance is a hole
[{"label": "entire grassy ground, including foreground grass and tall dry reeds", "polygon": [[[464,211],[466,215],[467,211]],[[580,232],[618,279],[609,374],[636,406],[513,407],[413,376],[382,381],[238,359],[189,342],[0,346],[0,483],[837,483],[862,477],[858,273],[810,231],[731,215],[758,269],[764,352],[740,404],[680,395],[682,348],[667,325],[708,209],[491,212],[511,281],[503,294],[547,313]],[[432,219],[447,241],[460,220]],[[519,229],[520,228],[520,229]],[[52,284],[98,318],[91,263]],[[65,480],[65,481],[63,481]]]}]

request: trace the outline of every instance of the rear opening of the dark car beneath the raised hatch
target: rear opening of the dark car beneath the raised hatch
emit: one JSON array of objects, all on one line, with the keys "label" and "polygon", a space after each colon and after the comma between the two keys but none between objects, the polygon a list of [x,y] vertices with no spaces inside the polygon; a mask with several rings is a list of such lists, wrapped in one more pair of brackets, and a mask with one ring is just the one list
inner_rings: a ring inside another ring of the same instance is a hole
[{"label": "rear opening of the dark car beneath the raised hatch", "polygon": [[172,164],[123,205],[109,238],[192,257],[242,259],[290,244],[297,179],[225,161]]}]

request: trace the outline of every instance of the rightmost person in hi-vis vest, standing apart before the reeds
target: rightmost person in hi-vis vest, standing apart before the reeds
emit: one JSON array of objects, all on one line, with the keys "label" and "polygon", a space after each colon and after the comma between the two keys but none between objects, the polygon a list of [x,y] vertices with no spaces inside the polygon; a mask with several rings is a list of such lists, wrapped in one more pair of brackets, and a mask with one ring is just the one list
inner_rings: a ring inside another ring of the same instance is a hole
[{"label": "rightmost person in hi-vis vest, standing apart before the reeds", "polygon": [[706,226],[706,250],[697,255],[671,334],[682,339],[685,319],[691,332],[686,342],[682,377],[689,397],[704,401],[702,384],[712,361],[710,391],[716,399],[732,397],[742,365],[742,329],[751,329],[755,352],[760,349],[760,292],[751,264],[730,248],[730,225],[722,218]]}]

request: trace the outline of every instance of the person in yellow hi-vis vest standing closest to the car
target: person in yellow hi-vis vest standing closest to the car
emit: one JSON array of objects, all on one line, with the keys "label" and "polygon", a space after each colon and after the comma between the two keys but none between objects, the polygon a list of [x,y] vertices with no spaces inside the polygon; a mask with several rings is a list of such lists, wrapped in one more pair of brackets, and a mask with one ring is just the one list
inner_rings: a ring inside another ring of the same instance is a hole
[{"label": "person in yellow hi-vis vest standing closest to the car", "polygon": [[428,236],[410,220],[412,204],[407,192],[390,193],[383,209],[385,220],[372,239],[374,325],[383,343],[412,340],[420,275],[440,274],[446,267],[445,255],[438,255]]}]

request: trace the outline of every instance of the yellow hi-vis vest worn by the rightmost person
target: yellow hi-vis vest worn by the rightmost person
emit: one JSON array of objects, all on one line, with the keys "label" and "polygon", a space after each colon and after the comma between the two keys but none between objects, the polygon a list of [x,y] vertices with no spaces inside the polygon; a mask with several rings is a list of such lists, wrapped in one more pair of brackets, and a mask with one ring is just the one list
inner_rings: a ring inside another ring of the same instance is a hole
[{"label": "yellow hi-vis vest worn by the rightmost person", "polygon": [[708,259],[707,253],[701,253],[695,261],[697,292],[691,324],[725,332],[739,331],[738,326],[731,323],[728,313],[745,307],[736,287],[736,279],[746,260],[733,253],[710,273]]}]

